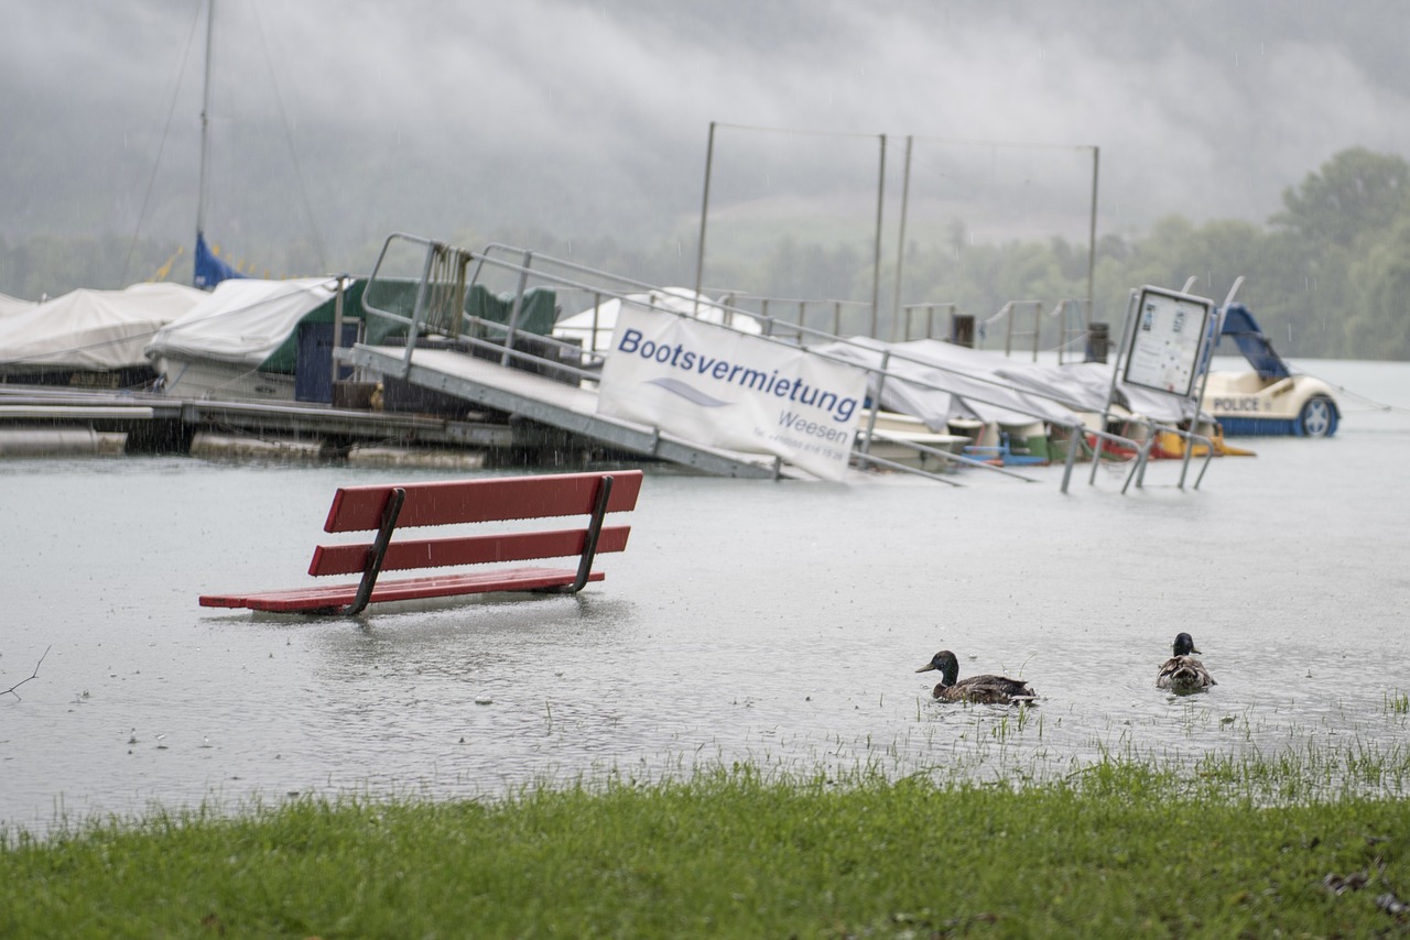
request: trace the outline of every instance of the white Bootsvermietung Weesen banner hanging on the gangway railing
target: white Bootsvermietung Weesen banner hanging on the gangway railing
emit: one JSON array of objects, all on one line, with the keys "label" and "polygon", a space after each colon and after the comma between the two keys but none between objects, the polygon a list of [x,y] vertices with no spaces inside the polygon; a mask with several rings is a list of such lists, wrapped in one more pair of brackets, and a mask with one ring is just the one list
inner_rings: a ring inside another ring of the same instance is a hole
[{"label": "white Bootsvermietung Weesen banner hanging on the gangway railing", "polygon": [[623,304],[598,412],[842,479],[866,386],[854,366]]}]

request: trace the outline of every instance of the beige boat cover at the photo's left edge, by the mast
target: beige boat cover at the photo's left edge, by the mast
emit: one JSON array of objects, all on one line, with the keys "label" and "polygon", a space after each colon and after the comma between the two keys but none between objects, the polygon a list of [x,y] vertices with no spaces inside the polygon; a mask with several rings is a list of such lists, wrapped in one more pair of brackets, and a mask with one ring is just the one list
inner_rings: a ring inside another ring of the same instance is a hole
[{"label": "beige boat cover at the photo's left edge, by the mast", "polygon": [[0,369],[107,372],[145,366],[142,348],[206,299],[175,283],[80,287],[0,319]]}]

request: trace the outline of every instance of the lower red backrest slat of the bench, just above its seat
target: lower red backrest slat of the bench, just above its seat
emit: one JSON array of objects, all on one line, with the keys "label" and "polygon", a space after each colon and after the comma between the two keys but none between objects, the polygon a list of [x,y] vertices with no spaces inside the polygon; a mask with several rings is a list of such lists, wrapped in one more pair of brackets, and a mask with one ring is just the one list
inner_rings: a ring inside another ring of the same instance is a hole
[{"label": "lower red backrest slat of the bench, just above its seat", "polygon": [[[603,526],[598,537],[598,552],[625,551],[630,531],[630,526]],[[481,565],[496,561],[567,558],[582,554],[587,536],[584,528],[564,528],[393,541],[386,548],[382,569],[407,571],[412,568]],[[371,543],[319,545],[313,551],[309,574],[314,576],[361,574],[371,550]]]}]

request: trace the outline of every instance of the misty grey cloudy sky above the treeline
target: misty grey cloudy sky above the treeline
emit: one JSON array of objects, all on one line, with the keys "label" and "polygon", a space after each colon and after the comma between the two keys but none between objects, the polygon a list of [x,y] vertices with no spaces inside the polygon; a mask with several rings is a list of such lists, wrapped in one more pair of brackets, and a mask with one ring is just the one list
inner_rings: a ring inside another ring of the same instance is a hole
[{"label": "misty grey cloudy sky above the treeline", "polygon": [[[918,204],[987,161],[971,227],[1025,186],[1086,207],[1097,147],[1098,234],[1262,223],[1341,149],[1410,154],[1403,0],[217,1],[206,227],[334,255],[691,233],[711,121],[722,218],[866,193],[881,134],[893,194],[921,138]],[[0,0],[0,234],[186,238],[204,3]]]}]

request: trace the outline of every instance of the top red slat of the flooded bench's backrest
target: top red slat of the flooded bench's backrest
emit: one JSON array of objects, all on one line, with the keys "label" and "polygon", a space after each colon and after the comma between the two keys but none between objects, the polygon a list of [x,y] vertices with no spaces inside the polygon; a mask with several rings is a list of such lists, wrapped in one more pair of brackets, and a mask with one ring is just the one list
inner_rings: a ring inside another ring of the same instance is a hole
[{"label": "top red slat of the flooded bench's backrest", "polygon": [[[398,528],[455,523],[503,521],[587,516],[594,509],[598,482],[612,476],[609,513],[636,509],[642,471],[611,474],[553,474],[547,476],[496,476],[489,479],[405,483],[406,500]],[[324,531],[369,531],[382,524],[382,506],[391,486],[343,486],[333,496]]]}]

